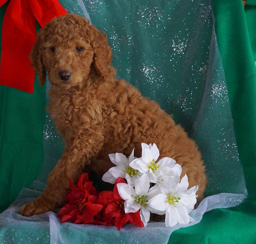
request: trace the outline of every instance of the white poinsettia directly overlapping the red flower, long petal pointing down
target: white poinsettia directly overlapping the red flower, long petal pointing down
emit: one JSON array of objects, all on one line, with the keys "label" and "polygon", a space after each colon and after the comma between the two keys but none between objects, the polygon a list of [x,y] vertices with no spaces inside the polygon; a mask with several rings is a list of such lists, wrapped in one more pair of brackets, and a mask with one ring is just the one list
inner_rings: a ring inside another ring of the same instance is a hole
[{"label": "white poinsettia directly overlapping the red flower, long petal pointing down", "polygon": [[138,178],[134,188],[125,183],[117,184],[119,195],[124,200],[124,212],[135,213],[140,210],[140,218],[144,226],[147,226],[150,218],[148,209],[149,196],[147,196],[149,188],[150,182],[147,174],[143,174]]}]

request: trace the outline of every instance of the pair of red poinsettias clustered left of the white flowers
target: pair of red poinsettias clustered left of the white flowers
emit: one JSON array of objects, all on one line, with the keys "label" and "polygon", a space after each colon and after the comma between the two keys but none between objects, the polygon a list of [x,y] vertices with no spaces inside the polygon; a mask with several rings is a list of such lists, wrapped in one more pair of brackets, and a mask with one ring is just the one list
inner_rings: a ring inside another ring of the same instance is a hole
[{"label": "pair of red poinsettias clustered left of the white flowers", "polygon": [[112,226],[118,230],[125,223],[144,227],[139,211],[124,212],[124,200],[120,197],[117,184],[126,183],[121,177],[117,178],[113,191],[97,190],[89,181],[88,174],[82,174],[75,185],[69,179],[71,190],[67,192],[68,203],[60,209],[58,217],[61,222],[73,221],[75,224],[95,224]]}]

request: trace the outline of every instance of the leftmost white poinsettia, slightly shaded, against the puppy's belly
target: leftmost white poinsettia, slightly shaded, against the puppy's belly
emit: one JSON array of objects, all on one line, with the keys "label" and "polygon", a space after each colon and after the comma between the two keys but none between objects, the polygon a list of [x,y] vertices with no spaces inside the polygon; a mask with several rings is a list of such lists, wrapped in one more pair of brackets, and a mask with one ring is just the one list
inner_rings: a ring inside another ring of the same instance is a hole
[{"label": "leftmost white poinsettia, slightly shaded, against the puppy's belly", "polygon": [[136,159],[134,157],[134,149],[132,150],[131,155],[127,158],[122,153],[113,153],[109,154],[109,159],[114,163],[115,167],[110,168],[103,176],[102,180],[114,184],[118,177],[125,178],[130,182],[136,180],[139,176],[138,170],[132,169],[129,164]]}]

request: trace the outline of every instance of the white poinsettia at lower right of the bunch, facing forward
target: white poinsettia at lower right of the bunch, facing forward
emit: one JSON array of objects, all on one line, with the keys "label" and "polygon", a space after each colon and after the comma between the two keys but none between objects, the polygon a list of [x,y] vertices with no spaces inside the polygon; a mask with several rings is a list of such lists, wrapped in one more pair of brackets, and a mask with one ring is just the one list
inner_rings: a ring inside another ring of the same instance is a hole
[{"label": "white poinsettia at lower right of the bunch, facing forward", "polygon": [[178,223],[188,224],[194,221],[188,214],[194,209],[196,204],[196,191],[198,186],[188,189],[188,177],[181,179],[180,183],[176,183],[172,177],[163,181],[155,188],[156,194],[149,201],[149,208],[152,213],[166,214],[166,226],[171,227]]}]

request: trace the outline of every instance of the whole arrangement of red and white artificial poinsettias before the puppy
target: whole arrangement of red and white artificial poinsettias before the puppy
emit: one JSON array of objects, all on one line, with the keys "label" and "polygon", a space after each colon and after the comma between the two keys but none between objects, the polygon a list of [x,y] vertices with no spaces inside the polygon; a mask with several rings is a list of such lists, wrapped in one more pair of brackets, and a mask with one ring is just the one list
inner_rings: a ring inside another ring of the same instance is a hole
[{"label": "whole arrangement of red and white artificial poinsettias before the puppy", "polygon": [[[142,143],[142,157],[127,158],[122,153],[110,154],[116,166],[106,172],[102,180],[114,184],[113,191],[97,190],[82,174],[76,185],[69,180],[71,190],[68,203],[59,211],[62,222],[115,225],[118,230],[125,223],[144,227],[150,213],[166,214],[167,227],[194,221],[189,213],[196,204],[198,186],[188,189],[188,177],[182,179],[181,166],[160,153],[155,144]],[[158,162],[157,162],[158,160]]]}]

